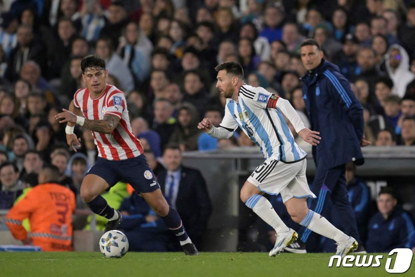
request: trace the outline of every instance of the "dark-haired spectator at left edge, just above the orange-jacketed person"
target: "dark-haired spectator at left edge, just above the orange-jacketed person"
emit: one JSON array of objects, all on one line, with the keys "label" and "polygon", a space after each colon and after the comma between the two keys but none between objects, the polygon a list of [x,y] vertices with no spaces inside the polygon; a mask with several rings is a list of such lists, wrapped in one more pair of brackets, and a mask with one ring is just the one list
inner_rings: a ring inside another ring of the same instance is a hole
[{"label": "dark-haired spectator at left edge, just above the orange-jacketed person", "polygon": [[22,194],[24,184],[19,180],[19,169],[16,164],[5,162],[0,165],[0,209],[9,209],[17,197]]}]

